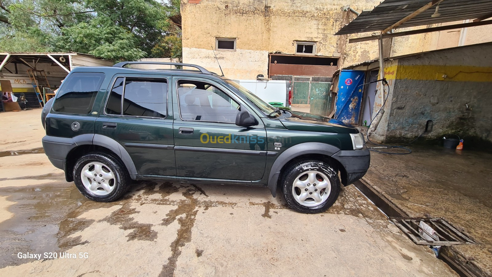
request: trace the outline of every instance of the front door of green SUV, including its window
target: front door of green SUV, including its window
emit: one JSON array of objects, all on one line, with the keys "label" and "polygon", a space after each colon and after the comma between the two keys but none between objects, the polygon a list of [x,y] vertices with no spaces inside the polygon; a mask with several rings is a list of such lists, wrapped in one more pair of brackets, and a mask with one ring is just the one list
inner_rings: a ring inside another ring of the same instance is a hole
[{"label": "front door of green SUV, including its window", "polygon": [[[240,100],[224,86],[202,78],[175,77],[174,140],[179,176],[259,180],[266,164],[262,121],[235,124]],[[244,106],[244,105],[243,105]],[[245,106],[244,106],[245,107]]]}]

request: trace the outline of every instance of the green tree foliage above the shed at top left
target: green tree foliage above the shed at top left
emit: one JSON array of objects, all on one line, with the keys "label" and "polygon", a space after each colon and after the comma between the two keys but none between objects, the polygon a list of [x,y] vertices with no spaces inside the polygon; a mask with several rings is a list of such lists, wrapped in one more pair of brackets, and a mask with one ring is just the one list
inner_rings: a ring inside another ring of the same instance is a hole
[{"label": "green tree foliage above the shed at top left", "polygon": [[181,58],[181,30],[168,20],[179,10],[179,0],[0,0],[0,47]]}]

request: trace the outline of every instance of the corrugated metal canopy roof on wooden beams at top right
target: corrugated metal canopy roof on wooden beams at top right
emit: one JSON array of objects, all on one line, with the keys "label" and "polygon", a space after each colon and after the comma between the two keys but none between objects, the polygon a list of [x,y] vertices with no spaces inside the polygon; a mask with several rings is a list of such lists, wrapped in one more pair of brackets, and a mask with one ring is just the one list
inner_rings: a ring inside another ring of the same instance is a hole
[{"label": "corrugated metal canopy roof on wooden beams at top right", "polygon": [[[385,0],[371,11],[363,11],[335,35],[382,31],[423,7],[430,0]],[[404,22],[398,28],[422,26],[492,15],[492,0],[443,0],[439,17],[432,18],[435,6]]]}]

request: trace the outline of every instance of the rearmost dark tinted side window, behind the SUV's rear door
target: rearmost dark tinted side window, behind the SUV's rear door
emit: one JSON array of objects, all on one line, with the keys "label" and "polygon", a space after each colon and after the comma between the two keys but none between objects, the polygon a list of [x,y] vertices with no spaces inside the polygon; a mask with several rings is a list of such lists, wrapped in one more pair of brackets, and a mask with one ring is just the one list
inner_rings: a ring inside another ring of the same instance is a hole
[{"label": "rearmost dark tinted side window, behind the SUV's rear door", "polygon": [[92,110],[104,73],[74,72],[63,82],[53,110],[66,113],[88,114]]}]

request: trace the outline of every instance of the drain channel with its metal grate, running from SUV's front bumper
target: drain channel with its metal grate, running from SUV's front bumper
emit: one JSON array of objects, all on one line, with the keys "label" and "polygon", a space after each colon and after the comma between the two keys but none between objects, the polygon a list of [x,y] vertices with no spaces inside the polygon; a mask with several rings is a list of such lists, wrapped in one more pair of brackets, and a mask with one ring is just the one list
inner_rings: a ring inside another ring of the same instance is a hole
[{"label": "drain channel with its metal grate, running from SUV's front bumper", "polygon": [[[405,211],[400,209],[398,206],[393,204],[390,200],[388,200],[384,195],[379,193],[376,189],[374,189],[371,185],[363,180],[356,181],[354,186],[362,192],[374,205],[379,208],[386,216],[388,216],[389,220],[392,223],[400,228],[400,230],[410,238],[413,242],[420,245],[429,245],[429,246],[442,246],[439,251],[438,259],[442,260],[446,264],[448,264],[456,273],[460,276],[465,277],[480,277],[485,276],[483,271],[476,267],[472,262],[469,262],[466,257],[457,252],[453,247],[459,244],[473,244],[475,243],[468,236],[464,235],[462,232],[458,231],[451,224],[443,220],[442,218],[411,218],[408,217]],[[413,221],[412,221],[413,220]],[[433,221],[431,221],[433,220]],[[421,231],[419,229],[427,229],[420,228],[420,221],[423,221],[428,226],[431,227],[438,235],[433,237],[434,240],[430,240],[429,234],[432,235],[433,232]],[[440,230],[437,224],[442,230]],[[449,228],[449,227],[451,228]],[[403,228],[402,228],[403,227]],[[437,230],[435,230],[437,229]],[[444,232],[443,232],[444,230]],[[456,231],[456,232],[455,232]],[[425,236],[424,236],[425,235]],[[425,237],[425,238],[424,238]],[[439,241],[435,238],[439,238]]]}]

